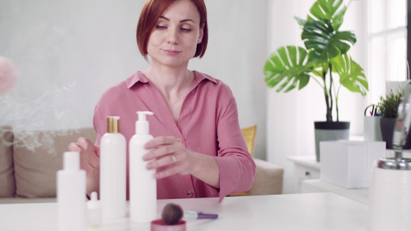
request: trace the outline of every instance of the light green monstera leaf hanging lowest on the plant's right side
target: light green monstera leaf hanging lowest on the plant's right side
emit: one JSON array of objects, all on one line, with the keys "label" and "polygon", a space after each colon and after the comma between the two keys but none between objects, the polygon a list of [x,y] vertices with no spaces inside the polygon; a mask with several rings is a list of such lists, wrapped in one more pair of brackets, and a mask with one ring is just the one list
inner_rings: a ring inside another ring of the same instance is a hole
[{"label": "light green monstera leaf hanging lowest on the plant's right side", "polygon": [[369,85],[360,65],[347,54],[334,57],[331,59],[331,64],[333,72],[337,72],[340,76],[341,85],[351,92],[360,92],[362,96],[365,96]]}]

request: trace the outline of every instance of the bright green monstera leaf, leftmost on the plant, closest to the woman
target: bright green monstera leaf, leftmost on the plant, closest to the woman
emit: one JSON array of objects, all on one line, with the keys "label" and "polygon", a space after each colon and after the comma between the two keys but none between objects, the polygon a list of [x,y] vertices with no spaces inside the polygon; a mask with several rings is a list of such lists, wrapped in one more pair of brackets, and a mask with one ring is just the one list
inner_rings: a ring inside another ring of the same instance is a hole
[{"label": "bright green monstera leaf, leftmost on the plant, closest to the woman", "polygon": [[298,85],[305,87],[310,81],[312,65],[307,64],[306,49],[299,46],[283,46],[271,53],[264,65],[265,83],[268,87],[277,86],[276,91],[289,92]]}]

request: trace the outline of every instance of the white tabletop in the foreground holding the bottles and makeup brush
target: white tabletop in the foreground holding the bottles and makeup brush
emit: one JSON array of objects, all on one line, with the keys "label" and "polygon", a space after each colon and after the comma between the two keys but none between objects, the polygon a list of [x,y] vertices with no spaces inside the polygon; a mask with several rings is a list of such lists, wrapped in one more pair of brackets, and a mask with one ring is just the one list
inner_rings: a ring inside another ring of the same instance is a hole
[{"label": "white tabletop in the foreground holding the bottles and makeup brush", "polygon": [[[158,200],[158,217],[173,202],[187,210],[219,213],[215,220],[190,220],[187,230],[333,230],[365,231],[369,207],[334,193],[256,195],[225,198]],[[57,204],[0,204],[0,230],[57,230]],[[103,224],[95,230],[150,230],[149,223],[128,218]]]}]

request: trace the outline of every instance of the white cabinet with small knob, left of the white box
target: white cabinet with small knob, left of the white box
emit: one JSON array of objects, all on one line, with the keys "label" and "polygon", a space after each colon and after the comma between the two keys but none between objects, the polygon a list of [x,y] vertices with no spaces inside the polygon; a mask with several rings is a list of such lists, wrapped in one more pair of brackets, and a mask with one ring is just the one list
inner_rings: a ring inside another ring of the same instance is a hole
[{"label": "white cabinet with small knob, left of the white box", "polygon": [[291,156],[288,160],[294,162],[295,192],[301,193],[303,180],[319,179],[321,165],[315,156]]}]

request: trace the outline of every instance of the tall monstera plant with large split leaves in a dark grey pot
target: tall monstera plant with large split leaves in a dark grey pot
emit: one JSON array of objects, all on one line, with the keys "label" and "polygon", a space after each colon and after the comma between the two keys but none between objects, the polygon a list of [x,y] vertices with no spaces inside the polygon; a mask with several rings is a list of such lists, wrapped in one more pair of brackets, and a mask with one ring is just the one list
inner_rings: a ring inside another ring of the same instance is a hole
[{"label": "tall monstera plant with large split leaves in a dark grey pot", "polygon": [[[277,92],[289,92],[296,87],[301,90],[312,79],[324,93],[326,120],[314,122],[317,161],[320,141],[349,139],[349,122],[340,122],[338,118],[340,87],[362,96],[368,91],[364,70],[348,54],[356,43],[356,35],[338,30],[347,6],[343,0],[317,0],[306,20],[295,17],[303,29],[301,40],[305,47],[282,46],[271,53],[264,65],[264,81]],[[332,116],[334,109],[336,121]]]}]

